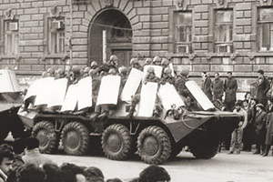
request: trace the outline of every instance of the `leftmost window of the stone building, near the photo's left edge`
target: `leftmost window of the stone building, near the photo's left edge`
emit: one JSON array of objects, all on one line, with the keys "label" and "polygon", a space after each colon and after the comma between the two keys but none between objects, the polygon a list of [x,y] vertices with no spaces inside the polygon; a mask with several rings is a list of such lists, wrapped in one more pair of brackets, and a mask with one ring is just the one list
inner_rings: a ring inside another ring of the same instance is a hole
[{"label": "leftmost window of the stone building, near the photo's left edge", "polygon": [[4,53],[17,55],[19,51],[18,21],[6,20],[4,26]]}]

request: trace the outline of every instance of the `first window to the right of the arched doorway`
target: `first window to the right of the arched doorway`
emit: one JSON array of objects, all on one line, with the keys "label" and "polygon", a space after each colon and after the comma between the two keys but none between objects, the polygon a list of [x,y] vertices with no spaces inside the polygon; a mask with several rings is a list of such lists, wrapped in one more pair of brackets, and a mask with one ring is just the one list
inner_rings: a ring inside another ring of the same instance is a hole
[{"label": "first window to the right of the arched doorway", "polygon": [[176,12],[175,18],[175,52],[191,53],[192,13]]}]

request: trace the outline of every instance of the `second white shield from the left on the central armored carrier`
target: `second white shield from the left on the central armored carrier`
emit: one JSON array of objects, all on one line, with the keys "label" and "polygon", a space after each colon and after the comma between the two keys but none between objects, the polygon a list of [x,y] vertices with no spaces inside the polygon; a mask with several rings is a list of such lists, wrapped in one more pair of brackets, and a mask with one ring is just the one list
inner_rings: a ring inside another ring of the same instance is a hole
[{"label": "second white shield from the left on the central armored carrier", "polygon": [[48,98],[51,95],[53,83],[54,77],[45,77],[40,79],[38,92],[35,98],[35,106],[48,104]]}]

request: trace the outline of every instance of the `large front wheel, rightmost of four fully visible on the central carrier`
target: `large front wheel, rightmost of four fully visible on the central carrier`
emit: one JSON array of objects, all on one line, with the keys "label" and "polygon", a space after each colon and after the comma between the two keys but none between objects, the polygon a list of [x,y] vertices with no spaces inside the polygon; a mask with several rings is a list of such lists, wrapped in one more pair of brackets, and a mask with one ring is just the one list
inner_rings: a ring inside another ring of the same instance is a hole
[{"label": "large front wheel, rightmost of four fully visible on the central carrier", "polygon": [[171,154],[167,133],[158,126],[148,126],[137,137],[137,153],[148,164],[162,164]]}]

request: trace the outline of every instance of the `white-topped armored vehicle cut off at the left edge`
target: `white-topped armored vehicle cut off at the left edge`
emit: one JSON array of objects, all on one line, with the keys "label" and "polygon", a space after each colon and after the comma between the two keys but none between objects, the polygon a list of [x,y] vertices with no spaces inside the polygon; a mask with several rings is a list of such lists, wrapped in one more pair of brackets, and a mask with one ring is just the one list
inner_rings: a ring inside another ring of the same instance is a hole
[{"label": "white-topped armored vehicle cut off at the left edge", "polygon": [[23,98],[15,73],[8,69],[0,70],[0,143],[9,132],[14,137],[24,135],[24,126],[17,116]]}]

